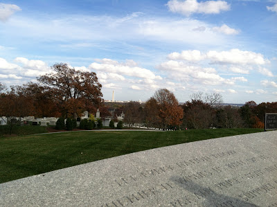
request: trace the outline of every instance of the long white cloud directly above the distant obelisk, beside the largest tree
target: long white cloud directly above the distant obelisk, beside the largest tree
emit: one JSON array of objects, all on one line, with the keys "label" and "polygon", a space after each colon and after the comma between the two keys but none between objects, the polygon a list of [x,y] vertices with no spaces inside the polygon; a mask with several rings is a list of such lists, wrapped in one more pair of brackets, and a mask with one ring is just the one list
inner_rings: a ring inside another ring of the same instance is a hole
[{"label": "long white cloud directly above the distant obelisk, beside the largest tree", "polygon": [[[98,63],[100,62],[100,63]],[[89,65],[89,69],[96,70],[99,72],[106,73],[117,73],[118,75],[127,75],[136,78],[145,79],[160,79],[161,76],[157,77],[152,71],[143,69],[139,66],[129,66],[129,62],[120,63],[116,60],[102,59],[98,62],[93,62]],[[118,76],[119,77],[119,76]]]}]

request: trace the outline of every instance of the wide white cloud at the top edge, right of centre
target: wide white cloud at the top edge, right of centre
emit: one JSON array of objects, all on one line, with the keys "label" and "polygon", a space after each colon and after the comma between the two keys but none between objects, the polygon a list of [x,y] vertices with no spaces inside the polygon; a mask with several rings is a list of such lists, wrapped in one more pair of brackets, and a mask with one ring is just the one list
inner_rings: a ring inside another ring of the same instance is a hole
[{"label": "wide white cloud at the top edge, right of centre", "polygon": [[197,0],[170,0],[167,6],[171,12],[186,16],[193,13],[218,14],[230,10],[230,5],[226,1],[201,1],[198,3]]}]

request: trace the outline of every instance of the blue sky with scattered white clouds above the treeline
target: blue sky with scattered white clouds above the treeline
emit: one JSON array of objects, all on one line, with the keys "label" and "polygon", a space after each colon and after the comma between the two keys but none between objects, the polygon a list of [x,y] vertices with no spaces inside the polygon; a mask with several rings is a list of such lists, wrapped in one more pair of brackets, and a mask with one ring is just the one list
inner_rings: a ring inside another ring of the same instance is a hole
[{"label": "blue sky with scattered white clouds above the treeline", "polygon": [[0,82],[36,82],[56,63],[96,72],[105,100],[277,101],[277,1],[0,1]]}]

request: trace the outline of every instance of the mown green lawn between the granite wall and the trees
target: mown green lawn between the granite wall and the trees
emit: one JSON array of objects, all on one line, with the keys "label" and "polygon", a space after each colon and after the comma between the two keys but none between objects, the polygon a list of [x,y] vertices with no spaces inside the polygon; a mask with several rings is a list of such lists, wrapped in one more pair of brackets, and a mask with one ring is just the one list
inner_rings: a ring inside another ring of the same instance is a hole
[{"label": "mown green lawn between the granite wall and the trees", "polygon": [[262,129],[66,132],[0,138],[0,183],[113,156]]}]

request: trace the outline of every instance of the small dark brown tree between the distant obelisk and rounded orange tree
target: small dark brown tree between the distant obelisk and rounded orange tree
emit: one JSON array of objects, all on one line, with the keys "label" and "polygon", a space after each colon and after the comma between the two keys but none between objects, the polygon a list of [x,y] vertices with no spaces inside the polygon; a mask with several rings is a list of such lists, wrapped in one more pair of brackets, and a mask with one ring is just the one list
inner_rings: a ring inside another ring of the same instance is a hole
[{"label": "small dark brown tree between the distant obelisk and rounded orange tree", "polygon": [[124,123],[132,127],[135,123],[141,123],[142,109],[141,104],[136,101],[130,101],[124,106]]}]

